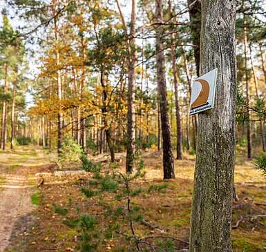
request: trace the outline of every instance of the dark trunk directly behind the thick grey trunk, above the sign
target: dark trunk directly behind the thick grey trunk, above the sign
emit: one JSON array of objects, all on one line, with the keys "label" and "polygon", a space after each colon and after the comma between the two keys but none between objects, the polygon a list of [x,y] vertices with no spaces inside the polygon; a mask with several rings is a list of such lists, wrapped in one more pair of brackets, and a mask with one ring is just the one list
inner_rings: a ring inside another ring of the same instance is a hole
[{"label": "dark trunk directly behind the thick grey trunk, above the sign", "polygon": [[189,6],[190,29],[193,41],[193,50],[196,63],[197,76],[200,76],[200,22],[201,1],[187,0]]}]

